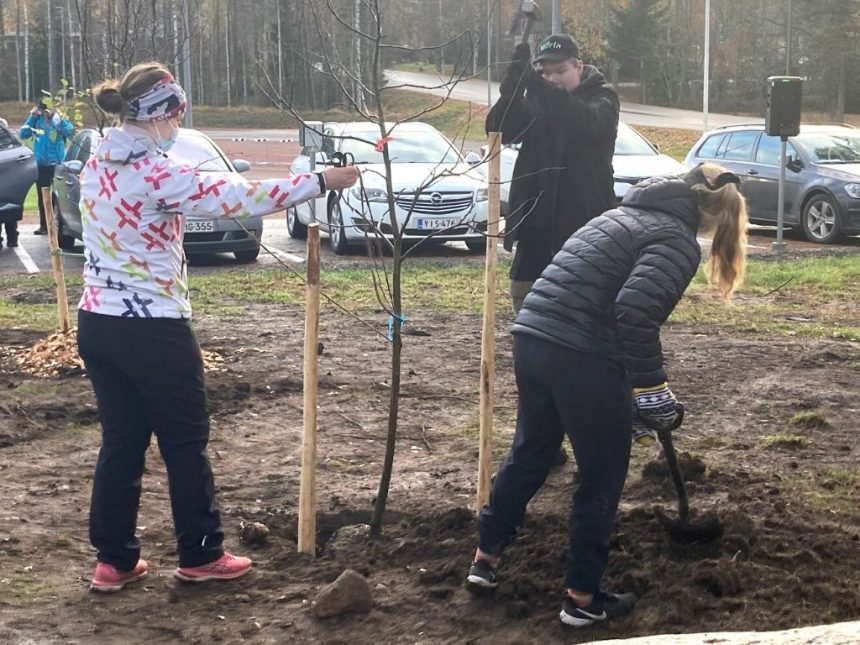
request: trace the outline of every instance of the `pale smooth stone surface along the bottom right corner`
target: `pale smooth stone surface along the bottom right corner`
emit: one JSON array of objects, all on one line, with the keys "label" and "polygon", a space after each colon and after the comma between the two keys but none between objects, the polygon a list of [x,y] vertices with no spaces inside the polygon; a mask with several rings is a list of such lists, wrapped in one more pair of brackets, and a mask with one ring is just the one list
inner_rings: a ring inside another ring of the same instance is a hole
[{"label": "pale smooth stone surface along the bottom right corner", "polygon": [[703,634],[665,634],[611,641],[592,645],[857,645],[860,622],[801,627],[779,632],[707,632]]}]

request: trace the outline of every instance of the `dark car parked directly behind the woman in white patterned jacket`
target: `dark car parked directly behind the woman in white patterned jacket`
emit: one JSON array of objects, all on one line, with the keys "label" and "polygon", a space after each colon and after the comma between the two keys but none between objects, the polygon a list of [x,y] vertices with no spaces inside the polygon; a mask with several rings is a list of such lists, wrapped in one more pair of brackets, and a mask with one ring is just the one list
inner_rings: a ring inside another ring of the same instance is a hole
[{"label": "dark car parked directly behind the woman in white patterned jacket", "polygon": [[[83,237],[80,173],[84,164],[101,141],[98,130],[80,130],[72,139],[66,160],[54,173],[54,210],[59,227],[59,245],[71,249],[75,240]],[[245,172],[247,161],[231,161],[212,139],[202,132],[180,128],[179,137],[169,155],[176,161],[188,164],[201,172]],[[244,227],[244,228],[243,228]],[[263,237],[263,218],[248,217],[241,225],[233,219],[185,218],[183,248],[186,255],[233,253],[241,262],[250,262],[260,254]]]}]

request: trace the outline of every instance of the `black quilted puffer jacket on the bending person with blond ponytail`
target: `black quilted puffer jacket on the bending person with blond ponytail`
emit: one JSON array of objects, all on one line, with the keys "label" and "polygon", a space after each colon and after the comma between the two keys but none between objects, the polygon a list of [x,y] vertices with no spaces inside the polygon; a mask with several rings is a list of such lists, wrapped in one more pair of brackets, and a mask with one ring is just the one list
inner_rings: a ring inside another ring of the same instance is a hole
[{"label": "black quilted puffer jacket on the bending person with blond ponytail", "polygon": [[701,259],[696,197],[683,179],[655,177],[565,242],[514,321],[530,334],[619,360],[631,385],[666,380],[660,326]]}]

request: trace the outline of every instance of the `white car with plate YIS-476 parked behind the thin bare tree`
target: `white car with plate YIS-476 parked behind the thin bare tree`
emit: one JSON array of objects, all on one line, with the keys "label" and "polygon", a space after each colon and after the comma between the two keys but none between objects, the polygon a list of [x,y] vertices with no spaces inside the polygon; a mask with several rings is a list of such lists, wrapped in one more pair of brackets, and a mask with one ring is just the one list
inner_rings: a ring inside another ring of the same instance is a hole
[{"label": "white car with plate YIS-476 parked behind the thin bare tree", "polygon": [[[338,155],[361,168],[361,180],[350,190],[328,194],[287,211],[287,229],[304,238],[307,226],[319,222],[331,248],[342,254],[376,236],[391,239],[398,227],[405,242],[432,238],[462,241],[472,251],[486,247],[487,182],[453,144],[433,126],[408,122],[394,125],[386,141],[369,122],[326,123],[320,150],[305,147],[292,163],[293,173],[321,170]],[[391,157],[394,222],[389,214],[382,146]]]}]

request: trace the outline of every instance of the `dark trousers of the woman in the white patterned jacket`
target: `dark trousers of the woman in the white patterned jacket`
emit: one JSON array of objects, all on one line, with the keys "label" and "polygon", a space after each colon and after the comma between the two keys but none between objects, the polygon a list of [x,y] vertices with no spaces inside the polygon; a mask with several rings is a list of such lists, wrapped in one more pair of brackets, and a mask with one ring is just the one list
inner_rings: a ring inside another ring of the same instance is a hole
[{"label": "dark trousers of the woman in the white patterned jacket", "polygon": [[135,529],[153,433],[167,467],[179,566],[217,560],[224,533],[206,455],[203,360],[190,322],[79,311],[78,349],[102,425],[90,506],[99,561],[129,571],[140,556]]}]

